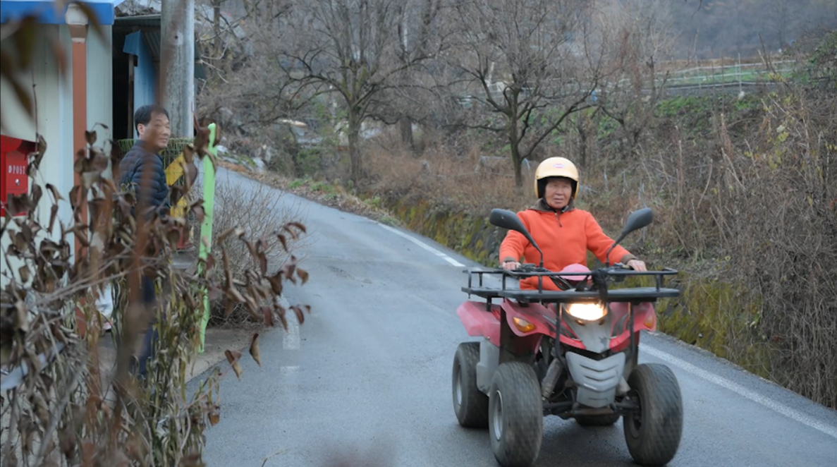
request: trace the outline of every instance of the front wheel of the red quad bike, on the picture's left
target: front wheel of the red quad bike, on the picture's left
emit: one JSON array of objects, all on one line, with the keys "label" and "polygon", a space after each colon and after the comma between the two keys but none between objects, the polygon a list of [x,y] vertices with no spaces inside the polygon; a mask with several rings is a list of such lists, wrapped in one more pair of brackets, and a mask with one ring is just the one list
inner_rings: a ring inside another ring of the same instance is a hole
[{"label": "front wheel of the red quad bike, on the picture's left", "polygon": [[535,464],[543,441],[543,404],[535,370],[521,362],[497,368],[488,403],[491,450],[502,467]]}]

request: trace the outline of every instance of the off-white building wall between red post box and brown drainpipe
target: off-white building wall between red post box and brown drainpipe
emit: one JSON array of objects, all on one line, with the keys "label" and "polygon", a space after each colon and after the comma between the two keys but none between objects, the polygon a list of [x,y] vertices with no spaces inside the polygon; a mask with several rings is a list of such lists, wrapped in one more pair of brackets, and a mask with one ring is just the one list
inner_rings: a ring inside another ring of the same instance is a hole
[{"label": "off-white building wall between red post box and brown drainpipe", "polygon": [[[0,101],[3,102],[3,134],[16,138],[23,138],[29,141],[37,141],[37,134],[44,137],[47,144],[47,151],[41,162],[40,170],[35,176],[36,182],[41,187],[47,183],[58,188],[64,201],[59,203],[58,220],[64,225],[72,224],[72,209],[69,206],[69,192],[73,188],[73,80],[72,60],[70,55],[69,28],[66,25],[39,25],[43,28],[44,34],[36,38],[35,53],[33,54],[33,68],[31,72],[21,75],[21,82],[26,87],[30,97],[35,103],[37,121],[32,121],[26,115],[26,111],[18,104],[18,98],[11,86],[3,80],[0,89]],[[66,74],[59,77],[58,63],[54,59],[52,48],[47,38],[58,37],[61,44],[64,44],[65,63],[67,64]],[[7,50],[9,44],[3,41],[0,44]],[[34,92],[33,92],[34,85]],[[31,182],[30,182],[31,189]],[[53,202],[49,191],[44,189],[44,196],[41,198],[37,208],[38,222],[45,228],[49,225],[50,208]],[[61,231],[58,225],[54,228],[52,237],[59,239]],[[8,248],[8,239],[2,239],[3,256]],[[7,280],[5,275],[11,272],[18,277],[19,264],[12,264],[12,271],[8,271],[5,258],[2,263],[3,285]]]}]

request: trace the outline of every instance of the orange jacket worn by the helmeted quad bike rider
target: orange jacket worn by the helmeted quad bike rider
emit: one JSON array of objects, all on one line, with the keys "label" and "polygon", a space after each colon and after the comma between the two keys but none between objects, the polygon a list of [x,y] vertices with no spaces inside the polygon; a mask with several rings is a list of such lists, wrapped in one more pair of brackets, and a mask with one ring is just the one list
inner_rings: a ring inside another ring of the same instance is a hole
[{"label": "orange jacket worn by the helmeted quad bike rider", "polygon": [[[572,205],[563,212],[555,212],[541,201],[534,208],[517,213],[517,216],[537,246],[543,250],[543,267],[551,271],[560,271],[568,264],[587,265],[588,249],[604,262],[604,255],[610,245],[614,244],[614,240],[602,231],[593,214],[573,208]],[[509,230],[500,245],[501,261],[519,261],[521,256],[523,262],[536,265],[541,258],[526,237]],[[627,263],[630,259],[636,257],[619,245],[610,252],[611,264],[617,261]],[[537,277],[521,280],[520,287],[523,290],[537,290]],[[544,278],[543,289],[557,290],[557,287],[552,280]]]}]

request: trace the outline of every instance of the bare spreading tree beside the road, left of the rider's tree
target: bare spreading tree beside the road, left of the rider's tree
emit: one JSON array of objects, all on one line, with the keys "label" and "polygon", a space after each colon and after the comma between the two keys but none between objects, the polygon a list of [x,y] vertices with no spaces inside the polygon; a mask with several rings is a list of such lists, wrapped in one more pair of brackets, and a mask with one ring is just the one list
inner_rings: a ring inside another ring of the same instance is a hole
[{"label": "bare spreading tree beside the road, left of the rider's tree", "polygon": [[314,0],[295,3],[277,41],[278,58],[301,95],[332,95],[345,111],[355,182],[364,175],[358,146],[361,124],[377,110],[377,97],[429,58],[407,50],[399,34],[409,3],[401,0]]}]

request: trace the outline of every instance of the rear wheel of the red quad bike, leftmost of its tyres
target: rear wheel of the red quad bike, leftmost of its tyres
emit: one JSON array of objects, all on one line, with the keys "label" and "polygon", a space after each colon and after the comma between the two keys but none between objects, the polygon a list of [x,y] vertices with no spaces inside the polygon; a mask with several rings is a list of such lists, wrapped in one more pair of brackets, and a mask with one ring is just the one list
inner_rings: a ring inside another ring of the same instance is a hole
[{"label": "rear wheel of the red quad bike, leftmost of its tyres", "polygon": [[465,428],[488,426],[488,396],[476,387],[480,343],[463,342],[456,348],[453,372],[454,413]]}]

